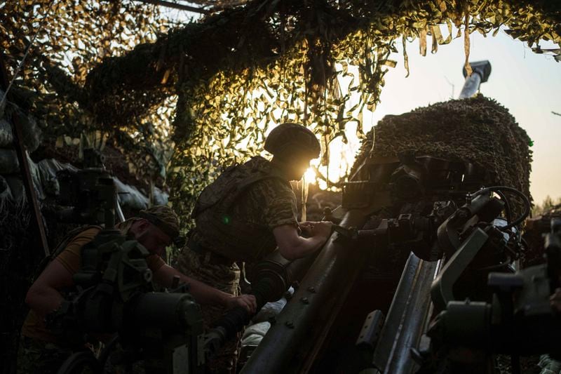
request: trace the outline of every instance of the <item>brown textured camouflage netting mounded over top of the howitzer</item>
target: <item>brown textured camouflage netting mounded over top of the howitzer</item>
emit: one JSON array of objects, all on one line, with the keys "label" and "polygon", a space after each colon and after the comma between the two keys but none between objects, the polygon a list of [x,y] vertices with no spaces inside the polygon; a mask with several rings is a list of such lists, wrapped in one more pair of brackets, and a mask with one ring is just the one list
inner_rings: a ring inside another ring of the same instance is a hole
[{"label": "brown textured camouflage netting mounded over top of the howitzer", "polygon": [[438,102],[379,121],[367,134],[351,175],[371,149],[373,156],[415,151],[417,155],[469,161],[488,172],[488,185],[513,187],[530,196],[530,142],[508,109],[495,100],[478,95]]}]

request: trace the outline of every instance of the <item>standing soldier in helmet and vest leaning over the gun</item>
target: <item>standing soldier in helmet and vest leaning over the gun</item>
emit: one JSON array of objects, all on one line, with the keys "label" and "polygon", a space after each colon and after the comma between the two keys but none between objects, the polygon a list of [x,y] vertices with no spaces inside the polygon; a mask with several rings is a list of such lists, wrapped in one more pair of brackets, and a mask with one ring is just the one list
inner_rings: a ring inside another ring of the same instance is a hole
[{"label": "standing soldier in helmet and vest leaning over the gun", "polygon": [[[288,260],[317,251],[331,234],[331,222],[306,222],[299,236],[296,196],[290,180],[300,180],[320,154],[316,136],[302,125],[283,123],[271,131],[265,147],[268,161],[255,156],[227,168],[198,197],[193,211],[196,228],[179,258],[179,269],[231,295],[238,295],[236,262],[256,262],[278,247]],[[205,323],[224,309],[203,306]],[[209,363],[215,373],[234,373],[238,342]]]}]

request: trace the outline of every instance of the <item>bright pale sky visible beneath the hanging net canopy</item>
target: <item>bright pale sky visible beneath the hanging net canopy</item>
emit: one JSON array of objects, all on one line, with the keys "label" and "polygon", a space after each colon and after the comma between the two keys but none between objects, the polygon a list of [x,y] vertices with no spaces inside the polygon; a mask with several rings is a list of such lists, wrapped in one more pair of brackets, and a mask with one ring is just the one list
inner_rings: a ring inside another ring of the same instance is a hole
[{"label": "bright pale sky visible beneath the hanging net canopy", "polygon": [[[188,12],[173,13],[177,20],[191,20]],[[456,35],[455,29],[452,35]],[[489,60],[492,65],[489,80],[481,85],[481,93],[506,107],[534,141],[530,175],[534,201],[541,203],[548,195],[554,199],[561,197],[561,116],[552,113],[561,113],[561,62],[555,62],[550,55],[533,53],[525,42],[512,39],[503,30],[496,36],[471,34],[470,39],[469,60]],[[386,114],[402,114],[416,107],[458,98],[464,85],[463,37],[438,46],[438,52],[434,54],[430,52],[430,37],[427,43],[426,56],[419,54],[418,39],[407,44],[410,66],[407,78],[401,53],[403,48],[400,42],[397,44],[400,53],[394,53],[391,59],[397,60],[398,65],[388,68],[381,102],[372,116],[364,116],[365,131]],[[543,41],[541,46],[558,48]],[[360,147],[353,133],[353,126],[349,126],[349,145],[345,151],[351,157]],[[340,159],[338,155],[332,155],[332,158]],[[352,163],[352,160],[348,162]]]}]

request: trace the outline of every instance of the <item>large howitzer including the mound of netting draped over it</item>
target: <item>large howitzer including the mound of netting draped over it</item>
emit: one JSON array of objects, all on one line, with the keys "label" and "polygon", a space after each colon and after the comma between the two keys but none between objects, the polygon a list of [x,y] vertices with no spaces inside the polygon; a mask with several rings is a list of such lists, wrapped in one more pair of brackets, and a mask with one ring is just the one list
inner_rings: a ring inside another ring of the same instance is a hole
[{"label": "large howitzer including the mound of netting draped over it", "polygon": [[[476,68],[471,95],[490,70]],[[448,301],[490,302],[488,274],[513,274],[530,158],[506,109],[452,100],[386,116],[375,129],[342,206],[326,212],[337,233],[243,373],[414,373],[433,316]],[[496,185],[509,187],[482,189]]]}]

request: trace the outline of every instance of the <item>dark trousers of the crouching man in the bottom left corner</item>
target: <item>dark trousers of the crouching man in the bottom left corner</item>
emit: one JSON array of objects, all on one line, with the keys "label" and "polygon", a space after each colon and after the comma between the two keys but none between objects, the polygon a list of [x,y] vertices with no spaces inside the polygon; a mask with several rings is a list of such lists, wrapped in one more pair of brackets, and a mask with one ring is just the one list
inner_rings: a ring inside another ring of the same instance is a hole
[{"label": "dark trousers of the crouching man in the bottom left corner", "polygon": [[72,350],[43,340],[20,338],[18,349],[18,374],[57,373]]}]

